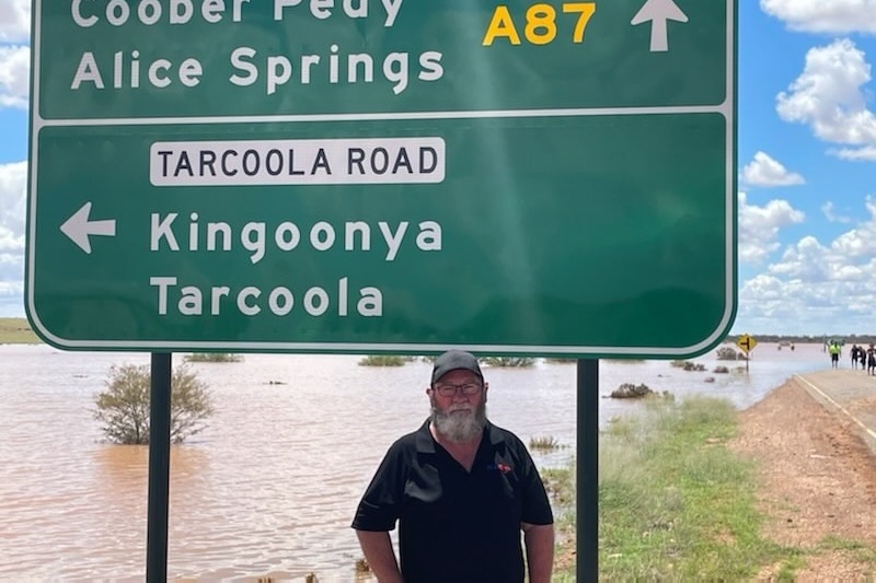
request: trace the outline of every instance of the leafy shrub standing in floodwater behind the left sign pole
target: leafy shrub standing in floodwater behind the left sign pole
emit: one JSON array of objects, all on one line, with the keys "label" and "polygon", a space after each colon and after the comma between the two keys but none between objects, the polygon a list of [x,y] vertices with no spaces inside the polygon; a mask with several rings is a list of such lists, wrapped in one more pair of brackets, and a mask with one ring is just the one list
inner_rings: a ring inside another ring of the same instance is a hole
[{"label": "leafy shrub standing in floodwater behind the left sign pole", "polygon": [[[122,444],[149,443],[150,384],[148,364],[113,365],[106,389],[94,397],[94,418],[110,441]],[[212,415],[207,385],[182,364],[171,377],[171,441],[181,443],[206,428]]]}]

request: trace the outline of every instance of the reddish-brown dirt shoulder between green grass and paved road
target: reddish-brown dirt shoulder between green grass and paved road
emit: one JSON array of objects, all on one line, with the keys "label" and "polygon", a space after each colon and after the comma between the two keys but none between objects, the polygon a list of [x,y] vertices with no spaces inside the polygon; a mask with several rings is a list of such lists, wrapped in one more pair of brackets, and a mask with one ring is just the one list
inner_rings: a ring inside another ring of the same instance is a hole
[{"label": "reddish-brown dirt shoulder between green grass and paved road", "polygon": [[800,581],[876,575],[876,454],[849,416],[791,380],[740,412],[730,446],[758,463],[764,536],[804,550]]}]

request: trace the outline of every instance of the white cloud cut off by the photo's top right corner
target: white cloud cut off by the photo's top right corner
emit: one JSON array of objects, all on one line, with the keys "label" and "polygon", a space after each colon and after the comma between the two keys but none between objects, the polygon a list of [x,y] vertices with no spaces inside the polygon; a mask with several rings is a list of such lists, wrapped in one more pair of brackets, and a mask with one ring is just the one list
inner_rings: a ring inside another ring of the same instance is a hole
[{"label": "white cloud cut off by the photo's top right corner", "polygon": [[876,0],[760,0],[760,8],[792,31],[876,33]]}]

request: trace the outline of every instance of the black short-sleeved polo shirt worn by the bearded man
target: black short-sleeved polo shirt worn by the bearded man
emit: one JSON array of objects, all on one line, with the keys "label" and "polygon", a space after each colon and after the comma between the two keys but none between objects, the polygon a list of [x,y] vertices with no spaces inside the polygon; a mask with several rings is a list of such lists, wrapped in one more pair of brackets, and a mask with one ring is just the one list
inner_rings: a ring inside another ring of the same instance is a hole
[{"label": "black short-sleeved polo shirt worn by the bearded man", "polygon": [[491,423],[471,473],[438,445],[427,420],[392,444],[353,527],[392,530],[405,583],[523,581],[520,523],[552,524],[523,443]]}]

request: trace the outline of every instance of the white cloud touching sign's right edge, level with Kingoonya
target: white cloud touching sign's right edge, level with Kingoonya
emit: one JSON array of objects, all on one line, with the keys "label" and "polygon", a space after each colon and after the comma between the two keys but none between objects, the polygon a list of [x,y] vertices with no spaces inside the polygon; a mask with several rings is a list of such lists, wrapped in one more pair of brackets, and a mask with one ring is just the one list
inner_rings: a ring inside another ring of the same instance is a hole
[{"label": "white cloud touching sign's right edge, level with Kingoonya", "polygon": [[794,209],[786,200],[771,200],[764,207],[748,203],[746,193],[739,193],[739,260],[762,264],[777,250],[779,231],[804,221],[803,211]]}]

